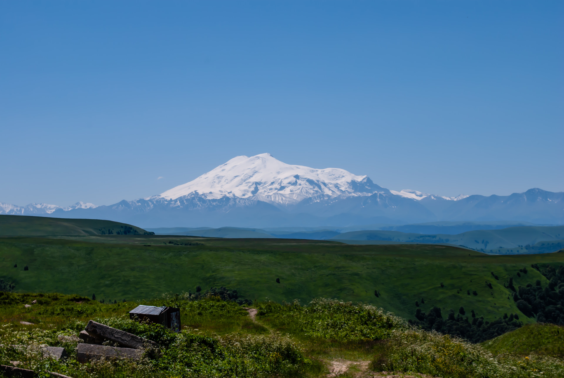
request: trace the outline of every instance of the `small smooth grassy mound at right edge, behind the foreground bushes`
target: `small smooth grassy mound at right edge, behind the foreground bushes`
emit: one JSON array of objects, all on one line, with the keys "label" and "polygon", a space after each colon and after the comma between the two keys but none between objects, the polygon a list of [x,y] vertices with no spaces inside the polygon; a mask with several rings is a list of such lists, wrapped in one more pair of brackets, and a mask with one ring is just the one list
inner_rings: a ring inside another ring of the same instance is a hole
[{"label": "small smooth grassy mound at right edge, behind the foreground bushes", "polygon": [[554,324],[527,324],[525,327],[484,341],[484,348],[493,354],[531,353],[564,357],[564,327]]}]

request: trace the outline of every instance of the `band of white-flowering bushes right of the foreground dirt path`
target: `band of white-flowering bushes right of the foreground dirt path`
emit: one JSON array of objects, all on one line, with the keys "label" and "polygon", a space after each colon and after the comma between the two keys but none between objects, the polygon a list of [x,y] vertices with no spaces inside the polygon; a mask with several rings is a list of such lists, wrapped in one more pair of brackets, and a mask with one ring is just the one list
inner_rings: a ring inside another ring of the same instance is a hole
[{"label": "band of white-flowering bushes right of the foreground dirt path", "polygon": [[[444,378],[557,378],[564,376],[562,359],[540,356],[492,355],[481,345],[436,331],[425,331],[364,304],[319,299],[307,306],[266,302],[258,306],[261,320],[297,336],[347,341],[372,340],[371,369],[422,373]],[[331,321],[337,320],[337,321]],[[341,322],[339,320],[345,320]],[[348,323],[348,324],[345,324]],[[351,328],[356,328],[351,332]],[[333,345],[335,345],[333,343]]]}]

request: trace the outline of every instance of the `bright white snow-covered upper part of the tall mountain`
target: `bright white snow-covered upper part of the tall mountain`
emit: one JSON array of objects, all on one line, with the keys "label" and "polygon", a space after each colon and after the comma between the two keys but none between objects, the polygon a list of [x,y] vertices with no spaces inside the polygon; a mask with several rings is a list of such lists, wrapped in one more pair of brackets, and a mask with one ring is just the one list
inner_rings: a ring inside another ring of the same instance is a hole
[{"label": "bright white snow-covered upper part of the tall mountain", "polygon": [[306,198],[336,196],[369,196],[389,193],[367,176],[358,176],[340,168],[315,169],[289,165],[270,153],[237,156],[208,173],[174,187],[159,196],[175,200],[187,195],[205,199],[245,198],[276,204],[296,204]]}]

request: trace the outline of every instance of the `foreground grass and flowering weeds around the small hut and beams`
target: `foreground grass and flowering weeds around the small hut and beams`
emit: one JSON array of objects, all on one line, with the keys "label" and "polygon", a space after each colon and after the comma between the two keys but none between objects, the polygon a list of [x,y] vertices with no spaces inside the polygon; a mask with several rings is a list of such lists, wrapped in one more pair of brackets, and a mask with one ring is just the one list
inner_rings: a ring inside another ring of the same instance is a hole
[{"label": "foreground grass and flowering weeds around the small hut and beams", "polygon": [[[26,308],[24,304],[37,300]],[[188,293],[144,302],[181,309],[182,332],[129,320],[137,303],[100,304],[78,296],[0,293],[0,363],[19,361],[35,371],[57,371],[75,378],[109,377],[324,377],[335,358],[367,361],[345,377],[380,371],[422,373],[443,378],[549,378],[564,375],[564,361],[541,354],[499,354],[482,346],[409,326],[371,305],[337,300],[259,302],[257,322],[234,302],[218,297],[193,301]],[[34,320],[22,326],[20,319]],[[75,336],[87,320],[147,337],[160,345],[140,362],[76,362]],[[24,345],[13,349],[10,344]],[[37,346],[64,346],[65,361],[43,359]]]}]

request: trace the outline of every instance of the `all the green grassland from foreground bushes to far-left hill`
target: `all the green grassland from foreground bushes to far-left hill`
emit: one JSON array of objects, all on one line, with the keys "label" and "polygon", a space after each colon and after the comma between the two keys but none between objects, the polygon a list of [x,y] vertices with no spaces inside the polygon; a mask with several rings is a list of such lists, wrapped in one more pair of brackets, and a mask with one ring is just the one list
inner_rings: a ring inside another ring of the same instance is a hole
[{"label": "all the green grassland from foreground bushes to far-left hill", "polygon": [[[14,234],[0,236],[3,365],[74,378],[564,375],[563,328],[517,308],[535,295],[543,316],[558,311],[550,298],[564,288],[564,253],[148,235],[116,222],[29,218],[0,218],[0,234]],[[130,320],[138,304],[179,307],[182,331]],[[80,364],[76,336],[90,319],[160,351]],[[449,334],[429,328],[438,324]],[[40,345],[70,357],[30,353]]]}]

